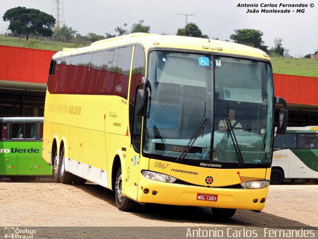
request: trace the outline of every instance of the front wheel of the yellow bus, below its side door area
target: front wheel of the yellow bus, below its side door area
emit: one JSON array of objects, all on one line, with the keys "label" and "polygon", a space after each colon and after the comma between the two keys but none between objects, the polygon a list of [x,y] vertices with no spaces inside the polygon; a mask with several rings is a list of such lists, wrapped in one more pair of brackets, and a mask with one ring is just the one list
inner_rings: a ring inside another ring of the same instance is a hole
[{"label": "front wheel of the yellow bus, below its side door area", "polygon": [[123,179],[122,179],[121,167],[118,167],[116,178],[115,178],[115,200],[116,206],[120,211],[131,212],[137,208],[137,203],[130,200],[126,196],[122,195]]}]

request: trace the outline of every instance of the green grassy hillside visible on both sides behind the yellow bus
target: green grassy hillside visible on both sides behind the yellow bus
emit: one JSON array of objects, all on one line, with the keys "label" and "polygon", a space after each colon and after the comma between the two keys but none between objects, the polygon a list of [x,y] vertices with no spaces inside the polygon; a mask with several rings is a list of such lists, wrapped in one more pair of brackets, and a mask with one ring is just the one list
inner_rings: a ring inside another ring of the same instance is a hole
[{"label": "green grassy hillside visible on both sides behind the yellow bus", "polygon": [[[77,43],[40,41],[0,35],[0,45],[36,48],[41,50],[61,51],[63,48],[77,48]],[[277,74],[318,77],[317,59],[298,59],[270,56],[273,72]]]}]

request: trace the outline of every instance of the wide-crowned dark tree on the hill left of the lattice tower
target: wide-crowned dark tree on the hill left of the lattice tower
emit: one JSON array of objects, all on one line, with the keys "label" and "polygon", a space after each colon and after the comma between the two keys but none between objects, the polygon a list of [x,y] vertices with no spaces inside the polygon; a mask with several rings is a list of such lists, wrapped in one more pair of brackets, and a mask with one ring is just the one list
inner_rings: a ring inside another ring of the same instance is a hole
[{"label": "wide-crowned dark tree on the hill left of the lattice tower", "polygon": [[55,18],[43,11],[14,7],[4,12],[3,21],[9,21],[8,29],[18,34],[26,34],[26,40],[30,34],[52,36]]}]

